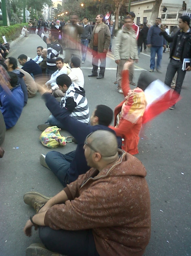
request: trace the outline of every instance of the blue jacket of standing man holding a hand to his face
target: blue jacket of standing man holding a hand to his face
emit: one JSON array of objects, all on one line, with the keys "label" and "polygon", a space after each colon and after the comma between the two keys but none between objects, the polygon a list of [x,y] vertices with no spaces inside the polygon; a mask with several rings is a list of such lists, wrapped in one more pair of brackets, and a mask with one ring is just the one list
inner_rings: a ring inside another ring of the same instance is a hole
[{"label": "blue jacket of standing man holding a hand to his face", "polygon": [[160,33],[161,30],[157,25],[150,27],[147,34],[147,44],[151,44],[154,47],[161,47],[166,45],[166,40],[162,35],[159,35]]}]

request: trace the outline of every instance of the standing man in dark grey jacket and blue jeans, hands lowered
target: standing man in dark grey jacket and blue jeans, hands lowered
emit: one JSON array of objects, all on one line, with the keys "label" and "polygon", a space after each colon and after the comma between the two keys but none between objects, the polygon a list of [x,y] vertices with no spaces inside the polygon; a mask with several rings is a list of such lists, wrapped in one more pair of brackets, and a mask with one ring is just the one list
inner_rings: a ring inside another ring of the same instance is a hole
[{"label": "standing man in dark grey jacket and blue jeans, hands lowered", "polygon": [[88,50],[89,40],[92,37],[91,25],[88,24],[88,18],[83,18],[83,33],[81,34],[81,46],[82,46],[82,64],[86,61],[86,54]]}]

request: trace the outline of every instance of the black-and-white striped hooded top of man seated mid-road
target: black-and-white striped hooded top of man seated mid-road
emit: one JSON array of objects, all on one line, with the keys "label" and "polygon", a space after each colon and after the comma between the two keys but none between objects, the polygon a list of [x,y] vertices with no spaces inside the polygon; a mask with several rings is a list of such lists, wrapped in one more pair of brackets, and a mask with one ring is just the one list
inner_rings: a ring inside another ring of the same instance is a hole
[{"label": "black-and-white striped hooded top of man seated mid-road", "polygon": [[65,97],[61,99],[61,108],[66,107],[71,112],[70,116],[82,123],[89,123],[89,107],[82,87],[72,84],[66,91]]}]

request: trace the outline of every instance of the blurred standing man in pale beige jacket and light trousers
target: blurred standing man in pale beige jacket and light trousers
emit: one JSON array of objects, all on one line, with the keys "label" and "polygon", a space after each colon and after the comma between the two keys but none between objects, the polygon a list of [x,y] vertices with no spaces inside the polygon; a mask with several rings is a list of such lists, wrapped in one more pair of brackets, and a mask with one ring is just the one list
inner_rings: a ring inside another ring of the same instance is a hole
[{"label": "blurred standing man in pale beige jacket and light trousers", "polygon": [[[123,70],[124,63],[132,59],[135,62],[138,62],[138,50],[137,50],[137,40],[136,40],[136,32],[132,29],[133,20],[130,16],[127,16],[124,18],[124,26],[121,30],[119,30],[116,42],[115,42],[115,48],[114,48],[114,58],[115,63],[118,64],[117,68],[117,81],[118,81],[118,92],[123,94],[123,91],[121,89],[121,81],[122,76],[121,72]],[[129,45],[131,47],[129,47]],[[133,65],[131,65],[131,69],[133,68]],[[132,77],[132,70],[129,72]],[[131,79],[129,79],[132,81]],[[132,84],[132,83],[131,83]]]}]

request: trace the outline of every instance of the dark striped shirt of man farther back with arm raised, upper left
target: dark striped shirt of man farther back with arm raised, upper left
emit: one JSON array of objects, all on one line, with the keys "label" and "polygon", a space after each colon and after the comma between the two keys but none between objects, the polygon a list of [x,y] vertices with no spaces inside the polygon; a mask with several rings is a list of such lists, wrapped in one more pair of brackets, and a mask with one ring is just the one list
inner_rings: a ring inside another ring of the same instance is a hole
[{"label": "dark striped shirt of man farther back with arm raised, upper left", "polygon": [[[47,43],[47,37],[38,29],[36,29],[35,33],[39,35],[45,43]],[[62,54],[62,46],[56,40],[52,44],[47,44],[47,67],[48,69],[57,70],[56,67],[56,59],[59,54]]]}]

